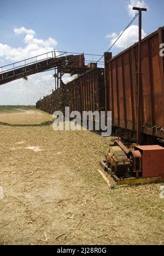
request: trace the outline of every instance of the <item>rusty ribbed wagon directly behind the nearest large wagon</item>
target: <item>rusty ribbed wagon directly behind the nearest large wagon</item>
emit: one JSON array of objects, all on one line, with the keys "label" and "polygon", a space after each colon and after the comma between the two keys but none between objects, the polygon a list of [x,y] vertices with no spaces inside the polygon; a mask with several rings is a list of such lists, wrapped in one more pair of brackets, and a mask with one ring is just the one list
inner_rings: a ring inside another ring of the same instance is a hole
[{"label": "rusty ribbed wagon directly behind the nearest large wagon", "polygon": [[105,110],[104,69],[94,68],[67,84],[67,106],[70,111]]}]

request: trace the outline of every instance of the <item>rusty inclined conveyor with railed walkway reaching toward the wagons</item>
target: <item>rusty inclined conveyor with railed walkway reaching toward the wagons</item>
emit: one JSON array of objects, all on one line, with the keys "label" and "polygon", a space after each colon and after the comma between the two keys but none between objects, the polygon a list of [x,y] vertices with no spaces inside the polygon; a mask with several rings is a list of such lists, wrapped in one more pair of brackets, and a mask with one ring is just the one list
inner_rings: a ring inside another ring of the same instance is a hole
[{"label": "rusty inclined conveyor with railed walkway reaching toward the wagons", "polygon": [[[59,68],[60,72],[62,69],[62,72],[64,73],[78,74],[87,69],[85,62],[94,62],[93,56],[99,56],[86,54],[92,56],[92,61],[85,61],[84,54],[69,54],[71,53],[64,51],[50,51],[45,54],[0,67],[0,85],[16,79],[27,78],[28,75],[48,71],[54,68]],[[99,62],[99,65],[103,65],[103,62]]]}]

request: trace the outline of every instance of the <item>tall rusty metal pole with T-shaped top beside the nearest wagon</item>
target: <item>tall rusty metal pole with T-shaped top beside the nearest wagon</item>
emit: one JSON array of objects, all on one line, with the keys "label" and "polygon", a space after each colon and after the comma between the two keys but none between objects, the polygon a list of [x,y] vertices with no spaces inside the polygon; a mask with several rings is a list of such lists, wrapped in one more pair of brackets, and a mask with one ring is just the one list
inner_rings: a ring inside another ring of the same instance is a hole
[{"label": "tall rusty metal pole with T-shaped top beside the nearest wagon", "polygon": [[141,111],[142,111],[142,11],[145,8],[133,7],[133,10],[139,11],[139,33],[138,33],[138,108],[137,108],[137,145],[140,144],[141,132]]}]

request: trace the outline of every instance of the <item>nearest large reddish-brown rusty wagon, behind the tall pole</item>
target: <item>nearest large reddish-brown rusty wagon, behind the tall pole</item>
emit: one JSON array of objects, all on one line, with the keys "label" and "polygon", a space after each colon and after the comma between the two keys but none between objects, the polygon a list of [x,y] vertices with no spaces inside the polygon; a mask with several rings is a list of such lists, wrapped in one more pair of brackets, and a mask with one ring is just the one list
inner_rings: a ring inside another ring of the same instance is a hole
[{"label": "nearest large reddish-brown rusty wagon, behind the tall pole", "polygon": [[[142,40],[142,138],[152,142],[164,138],[164,27]],[[106,110],[112,111],[113,127],[120,137],[136,138],[138,43],[112,58],[104,53]]]}]

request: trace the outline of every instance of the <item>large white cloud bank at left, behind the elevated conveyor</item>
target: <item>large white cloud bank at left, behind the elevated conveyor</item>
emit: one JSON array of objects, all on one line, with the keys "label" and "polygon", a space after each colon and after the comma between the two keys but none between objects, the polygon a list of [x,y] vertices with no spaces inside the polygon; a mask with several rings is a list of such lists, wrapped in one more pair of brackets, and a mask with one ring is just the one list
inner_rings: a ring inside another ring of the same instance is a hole
[{"label": "large white cloud bank at left, behind the elevated conveyor", "polygon": [[[27,30],[25,27],[14,28],[14,32],[17,36],[25,34],[23,39],[25,45],[14,48],[12,45],[0,43],[0,66],[51,52],[57,45],[55,39],[51,37],[46,40],[38,39],[34,36],[35,31]],[[46,58],[46,55],[40,58],[44,57]],[[52,57],[52,54],[48,57]],[[36,59],[31,59],[29,62],[32,61]],[[24,62],[20,62],[19,65],[24,65]],[[0,104],[35,104],[39,98],[51,94],[52,89],[55,89],[55,79],[52,74],[52,71],[34,74],[29,76],[27,81],[18,79],[0,86]]]}]

